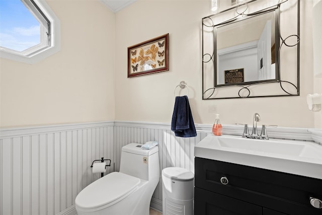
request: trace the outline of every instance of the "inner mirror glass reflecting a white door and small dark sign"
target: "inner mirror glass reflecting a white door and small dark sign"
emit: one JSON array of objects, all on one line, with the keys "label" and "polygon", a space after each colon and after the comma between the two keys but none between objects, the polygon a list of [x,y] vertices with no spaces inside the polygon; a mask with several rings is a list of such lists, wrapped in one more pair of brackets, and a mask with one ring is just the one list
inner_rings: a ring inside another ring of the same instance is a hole
[{"label": "inner mirror glass reflecting a white door and small dark sign", "polygon": [[277,80],[275,10],[215,26],[214,31],[216,87]]}]

